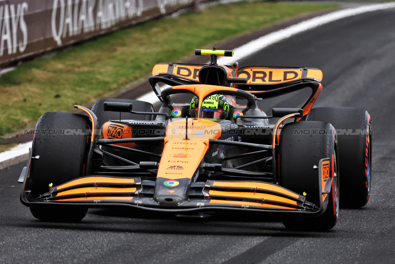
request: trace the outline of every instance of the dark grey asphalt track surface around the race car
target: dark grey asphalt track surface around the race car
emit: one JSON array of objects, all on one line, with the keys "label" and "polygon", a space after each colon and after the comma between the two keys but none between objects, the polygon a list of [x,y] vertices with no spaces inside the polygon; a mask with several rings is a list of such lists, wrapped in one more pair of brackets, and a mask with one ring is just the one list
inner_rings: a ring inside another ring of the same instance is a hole
[{"label": "dark grey asphalt track surface around the race car", "polygon": [[[278,218],[198,222],[99,209],[81,223],[48,223],[20,203],[25,163],[18,163],[0,171],[0,263],[394,263],[395,9],[329,23],[239,63],[320,68],[324,89],[315,106],[368,110],[373,178],[365,207],[340,209],[327,232],[290,232]],[[274,106],[297,106],[295,98]]]}]

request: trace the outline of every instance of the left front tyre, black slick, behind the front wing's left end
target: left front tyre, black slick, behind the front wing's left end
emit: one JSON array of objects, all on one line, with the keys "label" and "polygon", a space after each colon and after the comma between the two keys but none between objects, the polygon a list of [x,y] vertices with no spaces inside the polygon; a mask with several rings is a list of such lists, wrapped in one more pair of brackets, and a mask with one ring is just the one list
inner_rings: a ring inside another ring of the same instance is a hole
[{"label": "left front tyre, black slick, behind the front wing's left end", "polygon": [[[64,112],[48,112],[37,122],[32,143],[32,156],[40,156],[31,162],[29,176],[30,196],[40,198],[49,192],[49,184],[60,185],[83,176],[88,152],[86,116]],[[88,209],[59,209],[30,207],[35,218],[46,221],[75,222],[87,214]]]}]

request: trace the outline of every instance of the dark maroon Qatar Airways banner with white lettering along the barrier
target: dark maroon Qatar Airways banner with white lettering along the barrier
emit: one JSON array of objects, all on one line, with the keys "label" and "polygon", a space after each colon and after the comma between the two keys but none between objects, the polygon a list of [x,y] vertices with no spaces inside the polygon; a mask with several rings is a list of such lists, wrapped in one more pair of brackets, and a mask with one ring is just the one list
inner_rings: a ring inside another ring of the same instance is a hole
[{"label": "dark maroon Qatar Airways banner with white lettering along the barrier", "polygon": [[193,0],[0,0],[0,65],[190,5]]}]

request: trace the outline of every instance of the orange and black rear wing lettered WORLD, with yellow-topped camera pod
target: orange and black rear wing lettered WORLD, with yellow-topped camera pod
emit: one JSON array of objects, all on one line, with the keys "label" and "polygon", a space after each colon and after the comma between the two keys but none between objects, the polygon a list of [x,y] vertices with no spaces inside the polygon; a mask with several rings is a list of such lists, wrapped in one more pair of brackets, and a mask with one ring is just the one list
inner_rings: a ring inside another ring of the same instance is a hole
[{"label": "orange and black rear wing lettered WORLD, with yellow-topped camera pod", "polygon": [[[305,115],[322,90],[320,84],[322,71],[317,68],[246,66],[239,69],[237,62],[232,66],[216,63],[218,56],[231,57],[232,51],[216,50],[214,47],[213,50],[196,49],[195,54],[211,56],[211,62],[209,64],[159,63],[154,66],[149,83],[161,101],[159,82],[171,86],[188,84],[231,86],[252,93],[257,98],[276,97],[309,87],[312,93],[302,106]],[[199,78],[199,73],[202,72],[204,74]],[[211,79],[209,74],[213,75]],[[217,79],[218,84],[207,81]]]}]

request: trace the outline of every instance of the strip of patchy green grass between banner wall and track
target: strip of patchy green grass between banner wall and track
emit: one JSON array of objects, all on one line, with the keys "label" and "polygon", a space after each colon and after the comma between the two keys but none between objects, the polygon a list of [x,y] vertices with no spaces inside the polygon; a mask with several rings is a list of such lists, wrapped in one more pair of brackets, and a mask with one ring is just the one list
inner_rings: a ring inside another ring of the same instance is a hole
[{"label": "strip of patchy green grass between banner wall and track", "polygon": [[[35,124],[44,112],[73,111],[148,77],[160,62],[177,62],[196,48],[336,4],[237,2],[120,30],[25,63],[0,76],[0,135]],[[217,47],[226,49],[226,47]],[[60,97],[55,98],[56,94]]]}]

